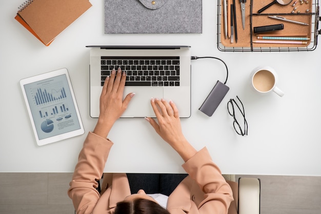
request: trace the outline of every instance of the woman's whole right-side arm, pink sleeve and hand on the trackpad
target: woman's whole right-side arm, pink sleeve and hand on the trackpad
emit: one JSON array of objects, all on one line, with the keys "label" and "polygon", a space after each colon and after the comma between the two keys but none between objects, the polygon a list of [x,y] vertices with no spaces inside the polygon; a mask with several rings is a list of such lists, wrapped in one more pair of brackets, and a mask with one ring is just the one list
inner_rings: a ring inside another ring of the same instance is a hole
[{"label": "woman's whole right-side arm, pink sleeve and hand on the trackpad", "polygon": [[146,120],[155,131],[183,158],[183,168],[203,191],[197,204],[199,213],[227,213],[233,201],[231,187],[226,183],[219,168],[214,164],[206,148],[196,151],[186,140],[180,126],[175,104],[164,99],[152,99],[151,104],[158,124],[152,118]]}]

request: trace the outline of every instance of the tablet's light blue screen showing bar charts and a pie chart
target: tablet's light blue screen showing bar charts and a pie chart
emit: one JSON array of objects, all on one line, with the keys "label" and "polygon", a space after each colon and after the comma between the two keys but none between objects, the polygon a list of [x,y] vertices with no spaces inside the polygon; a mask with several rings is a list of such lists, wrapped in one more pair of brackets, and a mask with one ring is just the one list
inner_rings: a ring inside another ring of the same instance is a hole
[{"label": "tablet's light blue screen showing bar charts and a pie chart", "polygon": [[24,84],[24,91],[37,141],[83,128],[66,73]]}]

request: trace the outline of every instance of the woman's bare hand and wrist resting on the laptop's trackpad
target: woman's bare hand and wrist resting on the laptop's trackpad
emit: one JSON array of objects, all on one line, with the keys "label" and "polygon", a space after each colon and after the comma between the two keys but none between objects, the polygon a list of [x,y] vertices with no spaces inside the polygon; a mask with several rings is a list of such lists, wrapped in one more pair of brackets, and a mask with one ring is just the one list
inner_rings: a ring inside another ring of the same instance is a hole
[{"label": "woman's bare hand and wrist resting on the laptop's trackpad", "polygon": [[146,120],[149,121],[159,136],[178,152],[184,161],[189,160],[196,153],[196,150],[184,137],[176,105],[172,101],[168,103],[164,99],[152,99],[151,105],[158,124],[152,118],[146,118]]}]

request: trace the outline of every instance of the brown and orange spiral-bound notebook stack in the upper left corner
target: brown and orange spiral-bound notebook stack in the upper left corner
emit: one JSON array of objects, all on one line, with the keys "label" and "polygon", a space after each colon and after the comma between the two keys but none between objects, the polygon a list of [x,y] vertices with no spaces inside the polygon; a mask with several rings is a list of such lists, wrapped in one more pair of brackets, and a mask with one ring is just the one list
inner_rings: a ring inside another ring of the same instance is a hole
[{"label": "brown and orange spiral-bound notebook stack in the upper left corner", "polygon": [[29,0],[14,17],[46,46],[92,5],[88,0]]}]

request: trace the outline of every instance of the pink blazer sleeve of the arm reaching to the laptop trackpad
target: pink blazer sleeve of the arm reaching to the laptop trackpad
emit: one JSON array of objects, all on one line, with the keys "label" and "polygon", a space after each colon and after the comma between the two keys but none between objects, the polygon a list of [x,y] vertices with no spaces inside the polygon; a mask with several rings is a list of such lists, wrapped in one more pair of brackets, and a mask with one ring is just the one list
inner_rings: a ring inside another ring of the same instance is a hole
[{"label": "pink blazer sleeve of the arm reaching to the laptop trackpad", "polygon": [[183,164],[183,168],[204,192],[196,203],[198,213],[228,213],[233,201],[232,189],[212,161],[207,148],[198,151]]}]

